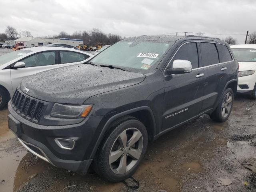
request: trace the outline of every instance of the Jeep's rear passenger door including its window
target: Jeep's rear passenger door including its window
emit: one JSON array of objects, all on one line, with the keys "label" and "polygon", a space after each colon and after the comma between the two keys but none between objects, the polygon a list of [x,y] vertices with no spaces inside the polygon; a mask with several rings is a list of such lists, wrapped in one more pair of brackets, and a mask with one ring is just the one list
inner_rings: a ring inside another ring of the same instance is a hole
[{"label": "Jeep's rear passenger door including its window", "polygon": [[214,107],[219,93],[223,90],[224,79],[222,64],[220,64],[217,44],[214,42],[200,42],[202,66],[205,71],[204,102],[202,111]]}]

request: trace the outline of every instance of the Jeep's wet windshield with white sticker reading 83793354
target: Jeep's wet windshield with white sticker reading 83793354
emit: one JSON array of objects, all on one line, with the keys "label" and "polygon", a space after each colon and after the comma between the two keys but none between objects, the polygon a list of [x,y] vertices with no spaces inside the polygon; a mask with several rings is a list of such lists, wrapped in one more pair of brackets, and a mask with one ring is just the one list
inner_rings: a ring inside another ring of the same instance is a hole
[{"label": "Jeep's wet windshield with white sticker reading 83793354", "polygon": [[146,71],[158,62],[168,48],[168,43],[117,42],[90,62]]}]

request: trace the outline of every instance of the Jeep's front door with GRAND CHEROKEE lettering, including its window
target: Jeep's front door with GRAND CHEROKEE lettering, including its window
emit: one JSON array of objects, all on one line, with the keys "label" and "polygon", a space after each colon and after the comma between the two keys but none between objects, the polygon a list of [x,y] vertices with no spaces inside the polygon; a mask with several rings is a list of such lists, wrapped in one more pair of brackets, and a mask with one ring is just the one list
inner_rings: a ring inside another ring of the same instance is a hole
[{"label": "Jeep's front door with GRAND CHEROKEE lettering, including its window", "polygon": [[204,91],[204,69],[200,67],[198,43],[183,44],[172,60],[189,60],[192,72],[164,77],[163,126],[169,129],[201,112]]}]

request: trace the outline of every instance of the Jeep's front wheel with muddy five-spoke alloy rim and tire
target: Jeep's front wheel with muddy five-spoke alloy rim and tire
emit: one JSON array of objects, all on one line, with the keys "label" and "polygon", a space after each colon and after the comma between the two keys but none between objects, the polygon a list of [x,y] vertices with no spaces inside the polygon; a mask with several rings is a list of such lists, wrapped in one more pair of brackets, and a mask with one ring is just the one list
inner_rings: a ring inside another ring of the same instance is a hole
[{"label": "Jeep's front wheel with muddy five-spoke alloy rim and tire", "polygon": [[110,182],[132,176],[148,146],[148,134],[142,122],[127,116],[116,122],[100,146],[94,160],[95,171]]}]

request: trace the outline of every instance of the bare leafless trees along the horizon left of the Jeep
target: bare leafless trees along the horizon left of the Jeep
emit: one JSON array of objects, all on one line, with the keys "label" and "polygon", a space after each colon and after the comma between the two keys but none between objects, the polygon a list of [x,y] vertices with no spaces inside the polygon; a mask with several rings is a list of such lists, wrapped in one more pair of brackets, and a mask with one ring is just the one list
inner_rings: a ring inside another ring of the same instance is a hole
[{"label": "bare leafless trees along the horizon left of the Jeep", "polygon": [[[7,26],[4,33],[0,33],[0,42],[5,40],[15,40],[21,37],[32,37],[31,32],[18,31],[12,26]],[[93,28],[90,31],[75,31],[73,34],[61,31],[58,35],[44,36],[43,38],[70,38],[70,39],[82,39],[84,44],[96,45],[96,44],[114,44],[122,39],[117,34],[105,34],[100,29]]]}]

